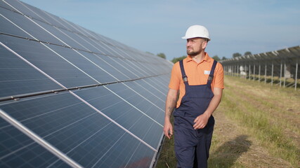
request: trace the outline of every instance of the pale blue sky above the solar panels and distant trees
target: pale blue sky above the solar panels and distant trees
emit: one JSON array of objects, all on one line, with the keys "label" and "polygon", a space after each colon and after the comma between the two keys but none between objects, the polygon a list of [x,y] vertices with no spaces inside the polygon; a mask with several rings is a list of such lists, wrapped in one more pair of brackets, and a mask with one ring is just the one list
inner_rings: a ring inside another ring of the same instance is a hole
[{"label": "pale blue sky above the solar panels and distant trees", "polygon": [[141,51],[186,55],[190,25],[204,25],[211,57],[300,45],[299,0],[23,0]]}]

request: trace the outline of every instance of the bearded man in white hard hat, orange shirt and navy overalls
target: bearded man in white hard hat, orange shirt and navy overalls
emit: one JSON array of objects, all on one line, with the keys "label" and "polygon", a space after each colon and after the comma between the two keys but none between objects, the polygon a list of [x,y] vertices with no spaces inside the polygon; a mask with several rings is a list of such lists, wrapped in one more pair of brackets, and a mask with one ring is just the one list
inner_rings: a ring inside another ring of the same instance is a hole
[{"label": "bearded man in white hard hat, orange shirt and navy overalls", "polygon": [[207,167],[214,130],[212,113],[221,102],[224,88],[223,66],[204,51],[210,41],[205,27],[191,26],[183,38],[187,39],[188,57],[176,62],[171,71],[164,134],[169,139],[173,135],[170,117],[176,108],[173,115],[177,167]]}]

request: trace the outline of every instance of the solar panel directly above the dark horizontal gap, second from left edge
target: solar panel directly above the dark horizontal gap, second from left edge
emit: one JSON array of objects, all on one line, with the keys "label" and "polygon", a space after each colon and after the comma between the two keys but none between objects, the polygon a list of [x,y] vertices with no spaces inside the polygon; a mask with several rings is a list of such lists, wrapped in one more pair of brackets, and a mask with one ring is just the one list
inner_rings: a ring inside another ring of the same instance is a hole
[{"label": "solar panel directly above the dark horizontal gap, second from left edge", "polygon": [[72,66],[41,43],[11,36],[0,36],[0,41],[6,41],[5,44],[9,48],[58,80],[65,87],[97,84],[95,80],[79,71],[75,66]]}]

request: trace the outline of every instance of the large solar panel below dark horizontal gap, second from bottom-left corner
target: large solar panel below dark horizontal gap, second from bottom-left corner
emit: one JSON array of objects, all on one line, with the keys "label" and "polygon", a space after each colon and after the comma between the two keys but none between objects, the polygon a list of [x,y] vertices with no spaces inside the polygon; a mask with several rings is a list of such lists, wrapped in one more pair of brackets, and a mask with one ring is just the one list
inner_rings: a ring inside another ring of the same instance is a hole
[{"label": "large solar panel below dark horizontal gap, second from bottom-left corner", "polygon": [[[0,108],[83,167],[111,164],[103,160],[107,155],[117,156],[114,160],[121,166],[129,162],[129,155],[141,152],[132,148],[141,141],[67,92],[0,104]],[[143,153],[151,157],[154,151],[142,145]],[[124,150],[115,150],[118,146]]]}]

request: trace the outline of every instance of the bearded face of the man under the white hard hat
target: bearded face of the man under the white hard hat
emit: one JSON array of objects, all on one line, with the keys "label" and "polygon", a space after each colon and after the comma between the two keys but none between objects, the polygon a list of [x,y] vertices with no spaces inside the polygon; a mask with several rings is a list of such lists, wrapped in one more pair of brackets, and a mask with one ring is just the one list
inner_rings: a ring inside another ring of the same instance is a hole
[{"label": "bearded face of the man under the white hard hat", "polygon": [[188,38],[186,41],[186,53],[190,56],[199,55],[206,47],[203,43],[207,43],[204,38]]}]

